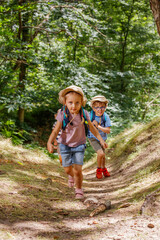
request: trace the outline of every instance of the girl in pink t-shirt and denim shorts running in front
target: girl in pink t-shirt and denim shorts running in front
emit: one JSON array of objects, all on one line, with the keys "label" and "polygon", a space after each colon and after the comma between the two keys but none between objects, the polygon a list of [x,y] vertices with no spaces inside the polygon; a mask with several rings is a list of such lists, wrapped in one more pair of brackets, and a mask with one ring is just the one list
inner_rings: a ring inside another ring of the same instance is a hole
[{"label": "girl in pink t-shirt and denim shorts running in front", "polygon": [[69,175],[68,185],[75,183],[75,198],[83,199],[82,190],[82,165],[86,147],[88,126],[90,131],[98,138],[103,148],[107,147],[97,129],[89,119],[89,113],[83,109],[86,98],[83,90],[75,85],[69,86],[59,92],[59,102],[63,104],[62,110],[57,114],[57,123],[47,142],[48,151],[53,152],[52,142],[62,129],[58,139],[62,165]]}]

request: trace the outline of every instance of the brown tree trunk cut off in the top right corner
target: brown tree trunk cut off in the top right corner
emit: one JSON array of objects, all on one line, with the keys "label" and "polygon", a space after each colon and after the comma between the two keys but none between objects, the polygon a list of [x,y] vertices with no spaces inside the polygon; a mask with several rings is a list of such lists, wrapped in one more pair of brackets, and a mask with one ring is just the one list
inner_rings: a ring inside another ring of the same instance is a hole
[{"label": "brown tree trunk cut off in the top right corner", "polygon": [[150,6],[160,35],[160,0],[150,0]]}]

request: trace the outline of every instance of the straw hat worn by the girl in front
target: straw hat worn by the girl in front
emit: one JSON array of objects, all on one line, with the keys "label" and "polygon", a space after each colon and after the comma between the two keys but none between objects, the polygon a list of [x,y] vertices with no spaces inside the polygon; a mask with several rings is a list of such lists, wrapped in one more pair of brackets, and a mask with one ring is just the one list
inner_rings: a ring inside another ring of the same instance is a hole
[{"label": "straw hat worn by the girl in front", "polygon": [[71,85],[59,92],[59,102],[61,104],[65,104],[65,95],[69,92],[76,92],[79,93],[82,96],[82,106],[84,107],[87,102],[87,98],[84,96],[83,90],[80,87],[77,87],[75,85]]}]

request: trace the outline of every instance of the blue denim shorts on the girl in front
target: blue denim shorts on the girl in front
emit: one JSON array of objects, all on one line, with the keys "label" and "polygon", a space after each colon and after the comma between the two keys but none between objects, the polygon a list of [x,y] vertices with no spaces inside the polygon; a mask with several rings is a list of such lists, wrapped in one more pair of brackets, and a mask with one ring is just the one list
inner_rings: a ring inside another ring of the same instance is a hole
[{"label": "blue denim shorts on the girl in front", "polygon": [[59,144],[62,156],[62,166],[69,167],[73,164],[83,165],[84,152],[86,145],[81,144],[77,147],[69,147],[62,143]]}]

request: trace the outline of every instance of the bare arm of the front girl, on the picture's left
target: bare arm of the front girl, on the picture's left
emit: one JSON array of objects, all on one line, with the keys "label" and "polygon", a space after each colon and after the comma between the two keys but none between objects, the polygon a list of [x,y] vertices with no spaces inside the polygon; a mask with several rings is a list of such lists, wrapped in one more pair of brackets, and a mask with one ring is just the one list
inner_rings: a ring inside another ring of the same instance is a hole
[{"label": "bare arm of the front girl, on the picture's left", "polygon": [[54,146],[52,143],[56,140],[56,137],[62,128],[61,122],[57,121],[55,128],[52,130],[51,135],[49,136],[48,142],[47,142],[47,149],[50,153],[53,152]]}]

